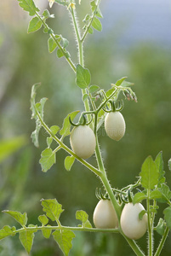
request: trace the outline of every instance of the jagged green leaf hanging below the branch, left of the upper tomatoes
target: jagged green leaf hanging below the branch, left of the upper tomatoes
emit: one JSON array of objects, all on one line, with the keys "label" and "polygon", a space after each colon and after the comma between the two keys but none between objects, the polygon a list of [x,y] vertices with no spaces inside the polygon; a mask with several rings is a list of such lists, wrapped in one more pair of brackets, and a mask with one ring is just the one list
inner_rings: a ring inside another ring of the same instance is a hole
[{"label": "jagged green leaf hanging below the branch, left of the upper tomatoes", "polygon": [[46,148],[41,154],[39,163],[43,172],[47,172],[56,162],[56,154],[52,148]]}]

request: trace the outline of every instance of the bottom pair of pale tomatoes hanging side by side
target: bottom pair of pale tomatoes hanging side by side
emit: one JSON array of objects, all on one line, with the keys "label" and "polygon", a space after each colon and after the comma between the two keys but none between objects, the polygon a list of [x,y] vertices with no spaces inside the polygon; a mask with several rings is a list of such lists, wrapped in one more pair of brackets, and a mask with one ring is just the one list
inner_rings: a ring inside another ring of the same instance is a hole
[{"label": "bottom pair of pale tomatoes hanging side by side", "polygon": [[[127,203],[120,218],[121,229],[130,239],[140,239],[147,230],[147,214],[140,219],[140,212],[145,208],[140,204]],[[117,213],[110,200],[101,199],[94,209],[94,225],[98,229],[115,229],[118,227]]]}]

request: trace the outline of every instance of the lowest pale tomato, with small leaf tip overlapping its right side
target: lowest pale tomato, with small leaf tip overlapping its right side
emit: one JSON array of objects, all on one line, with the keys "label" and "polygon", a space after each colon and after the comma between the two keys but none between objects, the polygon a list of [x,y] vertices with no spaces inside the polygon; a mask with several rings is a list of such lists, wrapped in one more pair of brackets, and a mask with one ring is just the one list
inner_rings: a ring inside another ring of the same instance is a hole
[{"label": "lowest pale tomato, with small leaf tip overlapping its right side", "polygon": [[123,207],[123,212],[121,214],[121,228],[125,236],[130,239],[140,239],[140,237],[145,235],[147,230],[147,214],[143,215],[140,220],[139,213],[145,210],[145,208],[140,203],[128,203]]}]

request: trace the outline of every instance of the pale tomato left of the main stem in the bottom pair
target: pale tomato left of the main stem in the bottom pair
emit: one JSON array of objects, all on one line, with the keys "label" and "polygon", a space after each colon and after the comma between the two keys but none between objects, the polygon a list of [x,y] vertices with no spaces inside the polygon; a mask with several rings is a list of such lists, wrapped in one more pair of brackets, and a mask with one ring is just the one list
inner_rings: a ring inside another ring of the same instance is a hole
[{"label": "pale tomato left of the main stem in the bottom pair", "polygon": [[94,225],[97,229],[117,228],[117,213],[110,200],[101,199],[98,202],[94,209]]}]

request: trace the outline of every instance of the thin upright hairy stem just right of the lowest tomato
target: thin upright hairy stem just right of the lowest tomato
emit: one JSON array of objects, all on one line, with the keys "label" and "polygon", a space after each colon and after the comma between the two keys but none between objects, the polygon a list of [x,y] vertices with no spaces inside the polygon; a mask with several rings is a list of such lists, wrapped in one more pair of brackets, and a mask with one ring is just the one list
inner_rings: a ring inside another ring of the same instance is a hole
[{"label": "thin upright hairy stem just right of the lowest tomato", "polygon": [[152,233],[153,233],[153,224],[151,224],[151,209],[150,209],[150,189],[147,190],[147,216],[148,216],[148,256],[152,256],[153,251],[153,241],[152,241]]}]

